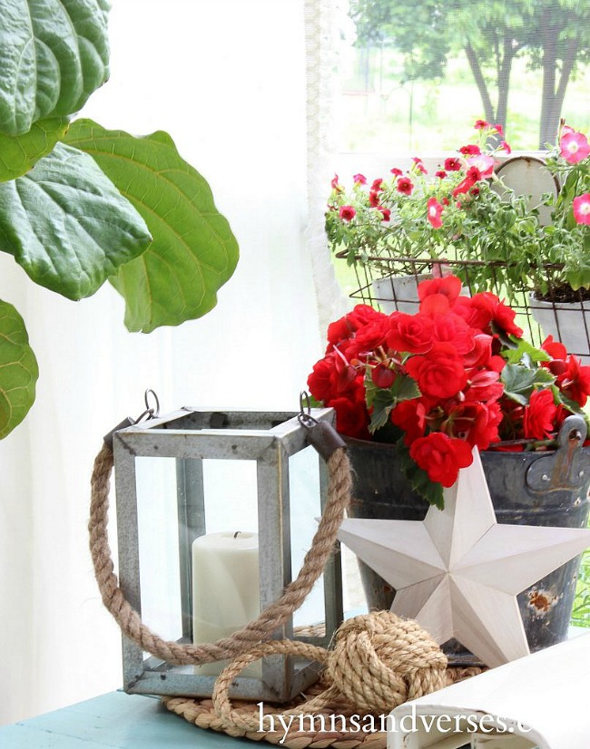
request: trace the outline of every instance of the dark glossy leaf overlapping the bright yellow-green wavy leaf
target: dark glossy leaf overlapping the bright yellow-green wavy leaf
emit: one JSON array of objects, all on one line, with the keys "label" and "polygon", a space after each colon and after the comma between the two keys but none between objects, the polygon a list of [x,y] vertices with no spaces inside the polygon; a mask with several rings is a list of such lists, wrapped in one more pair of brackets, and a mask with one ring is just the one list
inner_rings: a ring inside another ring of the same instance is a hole
[{"label": "dark glossy leaf overlapping the bright yellow-green wavy leaf", "polygon": [[131,203],[90,156],[64,143],[0,184],[0,250],[64,297],[89,297],[149,242]]}]

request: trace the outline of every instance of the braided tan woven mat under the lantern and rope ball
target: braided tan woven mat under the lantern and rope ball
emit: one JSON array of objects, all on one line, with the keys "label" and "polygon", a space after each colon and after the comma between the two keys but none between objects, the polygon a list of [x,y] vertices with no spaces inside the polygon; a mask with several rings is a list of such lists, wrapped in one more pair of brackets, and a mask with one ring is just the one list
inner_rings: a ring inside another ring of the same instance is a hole
[{"label": "braided tan woven mat under the lantern and rope ball", "polygon": [[[469,668],[447,668],[447,684],[454,684],[470,676],[476,676],[482,670],[475,666]],[[293,701],[290,705],[270,705],[269,703],[264,703],[264,715],[279,715],[283,713],[289,715],[290,709],[319,695],[326,689],[326,686],[322,681],[310,686],[306,690],[305,695],[301,695],[298,700]],[[172,713],[181,715],[189,723],[193,723],[199,728],[219,731],[230,736],[241,736],[251,739],[251,741],[266,741],[269,744],[280,744],[280,746],[284,746],[286,749],[326,749],[326,747],[334,747],[334,749],[386,749],[387,745],[387,733],[385,731],[364,732],[360,730],[359,733],[351,733],[350,730],[347,732],[299,731],[297,729],[300,727],[300,722],[297,718],[293,720],[292,724],[296,730],[291,730],[286,736],[282,725],[278,722],[274,733],[270,733],[269,731],[244,731],[235,726],[223,725],[221,718],[215,712],[211,699],[164,697],[162,703]],[[254,703],[235,700],[232,705],[233,709],[241,715],[259,715],[259,707]],[[331,715],[344,715],[348,719],[350,715],[359,715],[359,711],[351,708],[347,703],[339,704],[335,702],[333,705],[329,705],[329,708],[314,713],[314,726],[321,725],[320,715],[324,716],[324,725],[330,726]],[[363,717],[362,715],[360,716],[361,727],[363,726]],[[373,723],[376,726],[380,726],[380,718],[376,717]],[[268,725],[268,722],[265,722],[265,725]],[[310,725],[309,718],[303,721],[301,727],[308,725]],[[339,719],[335,720],[335,725],[336,727],[341,726]],[[348,720],[347,725],[349,725]],[[367,719],[364,725],[369,727],[371,725],[370,719]],[[284,741],[281,741],[283,738]]]}]

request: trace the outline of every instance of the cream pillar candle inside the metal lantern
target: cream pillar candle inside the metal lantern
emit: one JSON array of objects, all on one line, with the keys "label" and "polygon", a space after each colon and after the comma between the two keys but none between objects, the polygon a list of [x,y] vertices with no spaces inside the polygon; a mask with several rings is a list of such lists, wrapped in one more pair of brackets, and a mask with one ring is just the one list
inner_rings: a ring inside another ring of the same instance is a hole
[{"label": "cream pillar candle inside the metal lantern", "polygon": [[[192,543],[192,638],[195,645],[230,637],[261,611],[258,534],[224,531]],[[196,666],[217,676],[228,661]],[[242,676],[261,677],[260,661]]]}]

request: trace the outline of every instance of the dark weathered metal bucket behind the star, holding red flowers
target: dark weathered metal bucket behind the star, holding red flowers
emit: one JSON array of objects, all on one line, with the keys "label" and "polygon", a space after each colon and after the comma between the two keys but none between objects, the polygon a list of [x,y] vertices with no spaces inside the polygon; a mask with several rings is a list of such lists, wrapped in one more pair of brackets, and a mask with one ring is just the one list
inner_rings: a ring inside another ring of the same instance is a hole
[{"label": "dark weathered metal bucket behind the star, holding red flowers", "polygon": [[[590,448],[583,447],[585,436],[584,419],[573,415],[565,419],[555,451],[482,452],[498,522],[585,528],[590,507]],[[394,446],[355,439],[347,443],[354,471],[350,516],[423,520],[428,502],[412,490]],[[579,558],[572,559],[518,596],[532,652],[567,637],[578,567]],[[369,609],[390,608],[395,590],[361,561],[359,569]],[[477,664],[454,640],[444,650],[454,664]]]}]

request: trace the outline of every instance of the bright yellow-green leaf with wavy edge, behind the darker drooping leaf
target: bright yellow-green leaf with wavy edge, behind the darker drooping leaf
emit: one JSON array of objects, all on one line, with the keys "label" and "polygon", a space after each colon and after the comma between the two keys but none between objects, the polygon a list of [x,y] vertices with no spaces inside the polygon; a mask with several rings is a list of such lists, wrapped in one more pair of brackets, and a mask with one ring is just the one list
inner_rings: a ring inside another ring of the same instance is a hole
[{"label": "bright yellow-green leaf with wavy edge, behind the darker drooping leaf", "polygon": [[152,233],[143,256],[111,279],[125,298],[129,330],[179,325],[215,306],[217,290],[236,267],[238,245],[209,185],[182,160],[171,137],[134,138],[79,120],[66,141],[93,156]]}]

